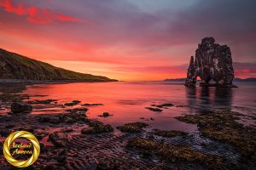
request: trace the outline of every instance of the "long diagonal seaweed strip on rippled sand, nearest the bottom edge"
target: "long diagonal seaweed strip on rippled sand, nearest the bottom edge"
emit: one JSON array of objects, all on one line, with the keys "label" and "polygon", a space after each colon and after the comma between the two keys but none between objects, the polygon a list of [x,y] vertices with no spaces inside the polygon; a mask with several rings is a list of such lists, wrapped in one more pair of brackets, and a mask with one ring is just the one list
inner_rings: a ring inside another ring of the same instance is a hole
[{"label": "long diagonal seaweed strip on rippled sand, nearest the bottom edge", "polygon": [[188,146],[163,144],[154,139],[137,137],[129,140],[127,147],[139,150],[141,153],[151,151],[151,154],[154,154],[165,161],[200,162],[213,167],[218,166],[223,162],[222,158],[218,156],[208,156],[200,151],[193,150]]}]

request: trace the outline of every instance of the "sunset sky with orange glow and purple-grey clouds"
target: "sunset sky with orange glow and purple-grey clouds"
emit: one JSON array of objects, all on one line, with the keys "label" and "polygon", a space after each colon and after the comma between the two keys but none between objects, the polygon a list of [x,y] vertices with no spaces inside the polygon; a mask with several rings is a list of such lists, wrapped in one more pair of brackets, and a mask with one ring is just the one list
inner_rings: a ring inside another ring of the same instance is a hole
[{"label": "sunset sky with orange glow and purple-grey clouds", "polygon": [[0,48],[122,81],[186,77],[203,37],[256,77],[255,0],[0,0]]}]

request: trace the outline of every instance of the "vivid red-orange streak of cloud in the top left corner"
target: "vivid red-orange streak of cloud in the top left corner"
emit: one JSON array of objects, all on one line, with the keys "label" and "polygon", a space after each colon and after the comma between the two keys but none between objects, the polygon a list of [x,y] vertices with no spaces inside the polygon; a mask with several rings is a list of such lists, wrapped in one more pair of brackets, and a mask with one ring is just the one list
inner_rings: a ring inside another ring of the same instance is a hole
[{"label": "vivid red-orange streak of cloud in the top left corner", "polygon": [[61,22],[82,22],[77,18],[65,14],[55,14],[47,8],[28,6],[25,3],[15,4],[11,0],[0,0],[0,7],[5,11],[18,15],[25,15],[26,19],[34,24],[47,25],[55,21]]}]

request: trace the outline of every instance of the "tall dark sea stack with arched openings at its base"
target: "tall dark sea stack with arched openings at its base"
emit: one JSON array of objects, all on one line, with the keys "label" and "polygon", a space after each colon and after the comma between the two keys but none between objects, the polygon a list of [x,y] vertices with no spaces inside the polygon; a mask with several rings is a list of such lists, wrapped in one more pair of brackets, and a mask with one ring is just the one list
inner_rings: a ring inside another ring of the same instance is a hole
[{"label": "tall dark sea stack with arched openings at its base", "polygon": [[[203,38],[195,51],[195,59],[191,56],[185,86],[195,87],[197,77],[201,78],[201,86],[236,87],[232,84],[234,70],[230,48],[215,43],[213,37]],[[210,84],[211,80],[215,83]]]}]

